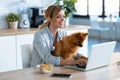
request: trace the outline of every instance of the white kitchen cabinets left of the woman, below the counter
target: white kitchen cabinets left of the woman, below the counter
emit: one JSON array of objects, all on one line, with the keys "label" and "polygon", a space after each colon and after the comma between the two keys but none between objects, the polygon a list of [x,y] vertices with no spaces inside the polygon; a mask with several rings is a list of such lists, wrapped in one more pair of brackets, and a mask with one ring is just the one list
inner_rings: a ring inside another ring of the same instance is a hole
[{"label": "white kitchen cabinets left of the woman, below the counter", "polygon": [[21,45],[32,44],[33,34],[0,37],[0,72],[22,69]]}]

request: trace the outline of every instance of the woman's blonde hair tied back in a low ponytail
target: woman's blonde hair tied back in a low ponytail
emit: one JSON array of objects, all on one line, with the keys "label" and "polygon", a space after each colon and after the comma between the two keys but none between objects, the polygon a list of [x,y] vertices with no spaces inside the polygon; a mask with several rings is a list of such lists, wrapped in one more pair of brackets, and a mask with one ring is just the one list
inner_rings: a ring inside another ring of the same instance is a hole
[{"label": "woman's blonde hair tied back in a low ponytail", "polygon": [[[45,19],[47,19],[48,17],[55,19],[55,17],[57,16],[58,12],[60,12],[60,10],[64,10],[64,8],[60,5],[51,5],[49,6],[46,11],[45,11]],[[50,22],[48,20],[46,20],[42,25],[39,26],[39,29],[44,28],[45,26],[49,26]]]}]

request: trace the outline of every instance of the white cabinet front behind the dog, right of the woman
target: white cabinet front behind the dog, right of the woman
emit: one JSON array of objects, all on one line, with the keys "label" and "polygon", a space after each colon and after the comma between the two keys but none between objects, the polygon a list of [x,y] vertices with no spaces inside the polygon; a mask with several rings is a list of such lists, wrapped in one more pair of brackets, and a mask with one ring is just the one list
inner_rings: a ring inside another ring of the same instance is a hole
[{"label": "white cabinet front behind the dog, right of the woman", "polygon": [[[86,32],[88,33],[88,29],[73,29],[73,30],[65,30],[67,32],[67,35],[70,35],[72,33],[75,32]],[[83,43],[83,47],[80,47],[80,49],[78,50],[78,53],[84,55],[84,56],[88,56],[88,37],[86,38],[86,40]]]}]

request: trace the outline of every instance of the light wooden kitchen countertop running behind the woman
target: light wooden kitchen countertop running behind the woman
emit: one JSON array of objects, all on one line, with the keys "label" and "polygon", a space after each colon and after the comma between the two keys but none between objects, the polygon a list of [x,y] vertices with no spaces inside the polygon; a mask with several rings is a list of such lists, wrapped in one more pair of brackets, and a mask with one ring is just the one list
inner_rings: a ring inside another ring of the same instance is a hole
[{"label": "light wooden kitchen countertop running behind the woman", "polygon": [[[78,30],[78,29],[89,29],[88,26],[83,25],[68,25],[62,30]],[[28,29],[0,29],[0,36],[10,36],[19,34],[33,34],[38,30],[38,28],[28,28]]]}]

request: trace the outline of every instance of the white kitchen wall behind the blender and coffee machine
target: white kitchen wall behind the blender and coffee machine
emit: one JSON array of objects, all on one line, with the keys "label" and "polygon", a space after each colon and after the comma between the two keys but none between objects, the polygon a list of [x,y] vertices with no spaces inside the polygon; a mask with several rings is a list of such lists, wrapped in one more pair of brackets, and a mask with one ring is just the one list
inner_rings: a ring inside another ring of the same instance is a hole
[{"label": "white kitchen wall behind the blender and coffee machine", "polygon": [[[10,13],[20,13],[20,1],[23,0],[0,0],[0,28],[8,28],[5,16]],[[56,0],[25,0],[29,7],[47,7]]]}]

